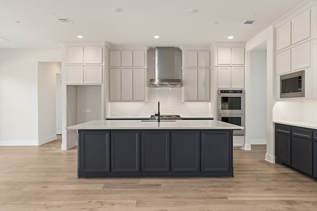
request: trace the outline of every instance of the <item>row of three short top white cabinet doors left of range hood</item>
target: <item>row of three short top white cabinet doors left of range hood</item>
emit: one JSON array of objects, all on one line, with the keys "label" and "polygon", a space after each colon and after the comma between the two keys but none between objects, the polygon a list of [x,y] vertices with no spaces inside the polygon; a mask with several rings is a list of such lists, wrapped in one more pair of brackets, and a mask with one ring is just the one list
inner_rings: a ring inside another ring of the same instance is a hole
[{"label": "row of three short top white cabinet doors left of range hood", "polygon": [[145,67],[144,50],[110,50],[110,67]]}]

